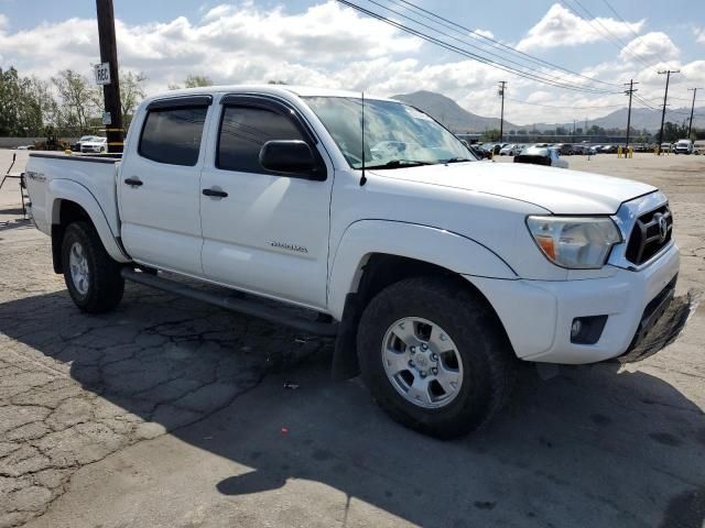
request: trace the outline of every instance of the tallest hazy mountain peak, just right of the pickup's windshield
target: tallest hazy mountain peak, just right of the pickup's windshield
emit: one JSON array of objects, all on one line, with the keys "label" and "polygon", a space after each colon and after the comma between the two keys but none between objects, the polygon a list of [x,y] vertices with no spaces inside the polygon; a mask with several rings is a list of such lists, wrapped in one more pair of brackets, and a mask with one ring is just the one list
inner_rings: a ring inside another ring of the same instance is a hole
[{"label": "tallest hazy mountain peak, just right of the pickup's windshield", "polygon": [[[484,130],[499,129],[499,118],[484,118],[468,112],[453,99],[433,91],[414,91],[392,96],[392,99],[412,105],[423,110],[429,116],[440,121],[453,132],[481,132]],[[517,125],[505,121],[505,130]]]}]

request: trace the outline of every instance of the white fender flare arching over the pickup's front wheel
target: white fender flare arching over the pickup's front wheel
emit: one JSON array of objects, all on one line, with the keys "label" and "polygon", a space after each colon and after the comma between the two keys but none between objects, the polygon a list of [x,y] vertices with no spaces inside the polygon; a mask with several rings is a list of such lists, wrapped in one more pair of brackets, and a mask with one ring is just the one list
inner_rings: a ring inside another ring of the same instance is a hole
[{"label": "white fender flare arching over the pickup's front wheel", "polygon": [[357,292],[362,267],[376,253],[427,262],[469,277],[519,278],[489,248],[462,234],[394,220],[358,220],[345,230],[332,260],[327,301],[336,319],[341,320],[347,295]]}]

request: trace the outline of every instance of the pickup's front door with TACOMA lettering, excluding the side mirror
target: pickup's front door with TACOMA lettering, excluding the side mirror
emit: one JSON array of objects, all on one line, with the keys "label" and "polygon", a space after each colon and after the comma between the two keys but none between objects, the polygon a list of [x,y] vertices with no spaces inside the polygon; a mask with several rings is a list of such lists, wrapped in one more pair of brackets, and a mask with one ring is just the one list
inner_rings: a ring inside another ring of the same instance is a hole
[{"label": "pickup's front door with TACOMA lettering, excluding the side mirror", "polygon": [[[205,276],[324,308],[333,187],[325,151],[284,101],[226,96],[218,107],[212,124],[215,152],[203,169],[202,193],[227,196],[200,195]],[[307,142],[319,164],[318,180],[263,168],[260,148],[272,140]]]}]

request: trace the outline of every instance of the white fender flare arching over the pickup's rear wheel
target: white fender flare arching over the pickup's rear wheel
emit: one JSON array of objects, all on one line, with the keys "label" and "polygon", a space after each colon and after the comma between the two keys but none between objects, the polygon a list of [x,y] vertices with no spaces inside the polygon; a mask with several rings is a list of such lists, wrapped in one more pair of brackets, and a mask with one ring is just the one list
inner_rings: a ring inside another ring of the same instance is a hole
[{"label": "white fender flare arching over the pickup's rear wheel", "polygon": [[52,224],[61,223],[61,207],[58,207],[61,200],[73,201],[88,213],[108,254],[118,262],[131,262],[131,258],[118,243],[116,233],[110,229],[100,204],[86,187],[69,179],[52,179],[48,183],[47,197],[51,199],[47,207],[47,218],[51,219]]}]

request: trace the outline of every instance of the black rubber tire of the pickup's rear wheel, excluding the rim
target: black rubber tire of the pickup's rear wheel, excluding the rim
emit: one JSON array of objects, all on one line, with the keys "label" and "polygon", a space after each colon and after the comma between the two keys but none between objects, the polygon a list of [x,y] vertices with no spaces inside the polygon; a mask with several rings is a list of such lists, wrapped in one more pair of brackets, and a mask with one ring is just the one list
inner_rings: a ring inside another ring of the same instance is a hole
[{"label": "black rubber tire of the pickup's rear wheel, excluding the rim", "polygon": [[[74,244],[79,244],[85,254],[88,270],[87,288],[74,284],[70,268],[70,251]],[[66,228],[62,241],[62,265],[68,294],[82,311],[104,314],[112,310],[122,299],[124,279],[120,275],[121,265],[108,255],[91,223],[74,222]]]}]

